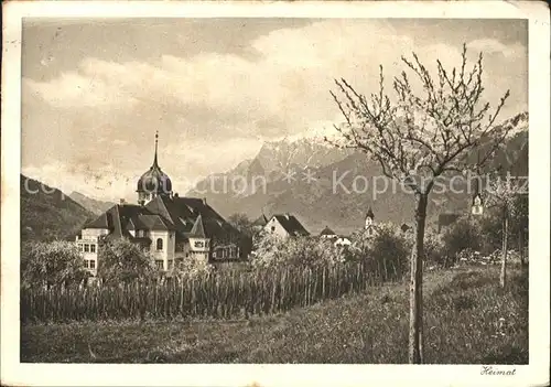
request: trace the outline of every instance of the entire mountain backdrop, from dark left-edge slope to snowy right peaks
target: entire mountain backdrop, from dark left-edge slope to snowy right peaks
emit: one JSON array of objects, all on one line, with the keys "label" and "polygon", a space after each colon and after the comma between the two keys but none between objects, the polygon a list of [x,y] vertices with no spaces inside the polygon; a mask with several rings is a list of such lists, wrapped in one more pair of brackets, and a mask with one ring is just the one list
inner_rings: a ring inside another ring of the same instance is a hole
[{"label": "entire mountain backdrop, from dark left-edge slope to snowy right peaks", "polygon": [[[501,166],[527,176],[528,114],[501,123],[506,125],[512,130],[490,160],[489,169]],[[325,226],[338,234],[353,233],[363,227],[369,207],[376,222],[411,224],[412,194],[399,186],[392,190],[391,181],[376,178],[382,176],[381,172],[378,163],[358,151],[307,138],[281,140],[264,143],[255,158],[228,172],[206,176],[186,196],[205,197],[226,218],[235,213],[245,213],[250,219],[262,214],[269,217],[292,213],[312,234]],[[374,182],[378,182],[375,194]],[[24,190],[24,184],[30,190]],[[385,184],[390,187],[382,190]],[[41,186],[46,189],[30,193]],[[441,213],[466,212],[471,201],[472,195],[466,193],[433,192],[428,221],[434,223]],[[112,205],[78,192],[66,195],[21,175],[22,239],[71,238],[87,221]]]}]

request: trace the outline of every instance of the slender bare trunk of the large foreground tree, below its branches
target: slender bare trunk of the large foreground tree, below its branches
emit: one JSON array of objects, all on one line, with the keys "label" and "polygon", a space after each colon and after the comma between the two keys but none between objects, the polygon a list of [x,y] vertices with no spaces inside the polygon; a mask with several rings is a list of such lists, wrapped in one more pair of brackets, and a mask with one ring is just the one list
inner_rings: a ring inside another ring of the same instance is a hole
[{"label": "slender bare trunk of the large foreground tree, below its branches", "polygon": [[410,262],[409,363],[423,363],[423,256],[428,194],[415,195],[415,243]]}]

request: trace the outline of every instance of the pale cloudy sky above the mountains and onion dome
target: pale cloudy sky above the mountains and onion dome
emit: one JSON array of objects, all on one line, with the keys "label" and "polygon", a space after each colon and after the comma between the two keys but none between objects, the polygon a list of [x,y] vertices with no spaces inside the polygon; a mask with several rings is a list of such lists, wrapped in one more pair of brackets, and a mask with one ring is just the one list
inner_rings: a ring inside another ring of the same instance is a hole
[{"label": "pale cloudy sky above the mountains and onion dome", "polygon": [[[485,98],[528,109],[521,20],[25,19],[22,172],[66,193],[136,201],[153,160],[185,192],[264,141],[320,137],[342,120],[329,90],[361,93],[415,52],[457,66],[484,53]],[[474,62],[471,62],[474,64]],[[434,73],[435,74],[435,73]]]}]

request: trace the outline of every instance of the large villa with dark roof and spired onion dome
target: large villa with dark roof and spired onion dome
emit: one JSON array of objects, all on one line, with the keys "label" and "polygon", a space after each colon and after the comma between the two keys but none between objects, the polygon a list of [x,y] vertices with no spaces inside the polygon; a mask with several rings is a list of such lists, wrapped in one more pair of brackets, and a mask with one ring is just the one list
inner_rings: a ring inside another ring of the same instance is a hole
[{"label": "large villa with dark roof and spired onion dome", "polygon": [[86,267],[97,273],[101,239],[126,238],[153,254],[155,265],[171,270],[179,261],[239,260],[248,255],[247,237],[226,222],[206,200],[180,197],[158,163],[158,135],[153,164],[137,183],[138,204],[120,204],[86,224],[76,236]]}]

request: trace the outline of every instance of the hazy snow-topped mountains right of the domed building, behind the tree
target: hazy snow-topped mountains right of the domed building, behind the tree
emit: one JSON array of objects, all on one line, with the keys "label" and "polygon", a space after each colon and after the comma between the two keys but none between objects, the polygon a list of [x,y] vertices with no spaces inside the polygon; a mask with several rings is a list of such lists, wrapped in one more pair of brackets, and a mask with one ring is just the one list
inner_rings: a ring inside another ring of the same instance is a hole
[{"label": "hazy snow-topped mountains right of the domed building, behind the tree", "polygon": [[[528,112],[505,120],[496,130],[506,126],[512,129],[488,170],[501,166],[528,175]],[[255,219],[261,214],[292,213],[315,234],[325,226],[341,234],[357,230],[369,207],[380,222],[411,223],[412,195],[400,189],[379,193],[391,181],[375,176],[382,176],[381,168],[363,152],[310,139],[282,140],[264,143],[253,159],[207,176],[186,195],[205,197],[223,216],[245,213]],[[375,194],[374,182],[378,182]],[[433,192],[429,222],[440,213],[468,211],[471,201],[469,194]]]}]

